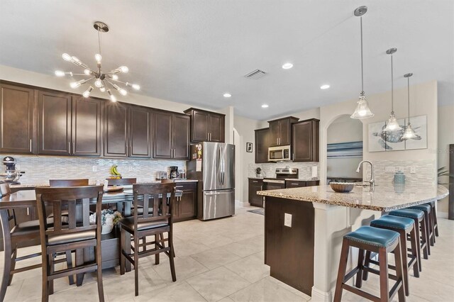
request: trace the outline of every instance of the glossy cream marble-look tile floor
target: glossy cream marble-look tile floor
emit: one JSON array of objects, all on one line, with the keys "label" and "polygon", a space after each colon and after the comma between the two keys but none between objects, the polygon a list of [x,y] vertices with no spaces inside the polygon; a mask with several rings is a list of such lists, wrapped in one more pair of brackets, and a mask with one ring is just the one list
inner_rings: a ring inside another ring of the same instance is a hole
[{"label": "glossy cream marble-look tile floor", "polygon": [[[232,218],[176,223],[177,281],[172,282],[166,256],[159,265],[154,257],[142,258],[140,295],[134,296],[133,273],[121,276],[118,268],[105,269],[106,301],[308,301],[309,296],[269,276],[263,264],[264,216],[247,212],[250,208],[238,208]],[[431,257],[423,260],[421,277],[411,276],[407,301],[453,301],[453,230],[454,221],[440,219],[441,236]],[[377,286],[374,277],[365,288]],[[40,269],[16,274],[5,301],[40,301],[40,284]],[[360,298],[344,293],[343,300]],[[69,286],[67,279],[56,280],[50,301],[97,301],[94,274],[87,274],[79,288]]]}]

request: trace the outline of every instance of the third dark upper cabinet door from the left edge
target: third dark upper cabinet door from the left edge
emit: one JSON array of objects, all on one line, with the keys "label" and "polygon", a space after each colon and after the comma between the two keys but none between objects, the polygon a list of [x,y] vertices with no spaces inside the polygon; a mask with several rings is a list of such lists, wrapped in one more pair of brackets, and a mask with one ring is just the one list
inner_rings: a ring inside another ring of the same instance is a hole
[{"label": "third dark upper cabinet door from the left edge", "polygon": [[72,155],[101,156],[102,101],[72,97]]}]

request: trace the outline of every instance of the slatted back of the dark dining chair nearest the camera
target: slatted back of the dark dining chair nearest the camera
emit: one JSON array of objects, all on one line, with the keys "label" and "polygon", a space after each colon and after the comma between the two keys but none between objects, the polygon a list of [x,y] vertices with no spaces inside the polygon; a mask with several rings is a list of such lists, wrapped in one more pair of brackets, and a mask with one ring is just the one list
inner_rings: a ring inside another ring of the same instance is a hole
[{"label": "slatted back of the dark dining chair nearest the camera", "polygon": [[[48,237],[52,235],[71,234],[86,230],[96,230],[96,237],[101,235],[103,186],[36,188],[35,193],[42,244],[45,242],[45,245],[48,245]],[[95,225],[89,223],[90,199],[96,200]],[[77,207],[82,208],[80,223],[76,218]],[[48,224],[46,211],[54,213],[52,224]],[[67,211],[67,223],[62,222],[62,211]]]}]

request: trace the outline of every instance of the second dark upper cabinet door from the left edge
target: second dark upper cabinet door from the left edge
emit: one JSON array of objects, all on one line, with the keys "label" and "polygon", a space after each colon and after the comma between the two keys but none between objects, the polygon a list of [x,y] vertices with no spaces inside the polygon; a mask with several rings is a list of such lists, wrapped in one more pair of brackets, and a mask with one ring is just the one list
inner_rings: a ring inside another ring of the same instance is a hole
[{"label": "second dark upper cabinet door from the left edge", "polygon": [[71,154],[71,96],[47,91],[38,93],[38,154]]}]

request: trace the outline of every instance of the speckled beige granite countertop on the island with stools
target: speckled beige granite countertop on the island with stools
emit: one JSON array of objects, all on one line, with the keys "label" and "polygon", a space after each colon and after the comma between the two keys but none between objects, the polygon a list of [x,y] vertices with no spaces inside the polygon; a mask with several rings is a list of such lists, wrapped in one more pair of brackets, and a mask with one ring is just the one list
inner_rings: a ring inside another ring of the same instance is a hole
[{"label": "speckled beige granite countertop on the island with stools", "polygon": [[349,193],[336,193],[331,186],[308,186],[304,188],[258,191],[258,195],[287,198],[295,201],[327,203],[348,208],[362,208],[374,211],[392,211],[415,206],[434,199],[448,196],[449,191],[437,184],[406,184],[403,186],[355,186]]}]

